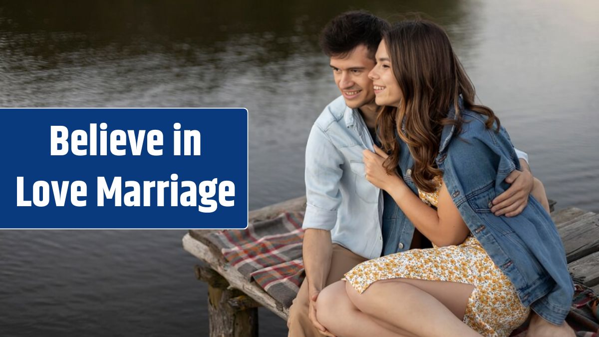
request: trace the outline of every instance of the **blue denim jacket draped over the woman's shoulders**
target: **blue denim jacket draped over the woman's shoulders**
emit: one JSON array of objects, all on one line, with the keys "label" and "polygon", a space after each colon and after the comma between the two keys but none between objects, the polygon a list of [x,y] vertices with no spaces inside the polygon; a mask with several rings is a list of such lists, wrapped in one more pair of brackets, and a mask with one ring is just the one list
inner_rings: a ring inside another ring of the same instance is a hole
[{"label": "blue denim jacket draped over the woman's shoulders", "polygon": [[[455,110],[449,112],[455,118]],[[441,134],[437,166],[453,202],[471,233],[518,290],[525,306],[554,324],[561,324],[574,293],[565,250],[549,214],[533,197],[518,216],[491,212],[491,201],[509,185],[508,174],[520,169],[507,131],[485,127],[486,116],[461,110],[462,131],[446,125]],[[413,159],[400,142],[400,167],[407,185],[417,193],[410,176]]]}]

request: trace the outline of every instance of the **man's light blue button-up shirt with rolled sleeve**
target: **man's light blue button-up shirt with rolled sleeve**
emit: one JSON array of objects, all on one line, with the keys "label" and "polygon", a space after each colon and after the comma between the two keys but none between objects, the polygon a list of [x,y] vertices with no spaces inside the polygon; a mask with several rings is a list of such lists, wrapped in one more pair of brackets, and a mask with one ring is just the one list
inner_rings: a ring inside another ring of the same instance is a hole
[{"label": "man's light blue button-up shirt with rolled sleeve", "polygon": [[332,242],[376,258],[383,248],[383,201],[380,189],[364,176],[364,149],[374,151],[364,119],[338,97],[316,119],[308,137],[302,227],[330,230]]}]

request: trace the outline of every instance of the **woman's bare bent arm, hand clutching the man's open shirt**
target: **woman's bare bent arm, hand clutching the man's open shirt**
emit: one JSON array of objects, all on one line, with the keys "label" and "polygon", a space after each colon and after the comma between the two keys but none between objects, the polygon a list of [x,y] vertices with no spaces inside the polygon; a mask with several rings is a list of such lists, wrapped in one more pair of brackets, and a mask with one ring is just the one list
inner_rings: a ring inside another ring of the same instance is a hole
[{"label": "woman's bare bent arm, hand clutching the man's open shirt", "polygon": [[458,245],[470,233],[458,208],[453,204],[445,183],[441,185],[437,210],[423,203],[397,174],[387,174],[383,162],[388,157],[381,149],[376,153],[365,150],[364,164],[366,179],[373,185],[385,189],[400,206],[408,219],[420,233],[437,246]]}]

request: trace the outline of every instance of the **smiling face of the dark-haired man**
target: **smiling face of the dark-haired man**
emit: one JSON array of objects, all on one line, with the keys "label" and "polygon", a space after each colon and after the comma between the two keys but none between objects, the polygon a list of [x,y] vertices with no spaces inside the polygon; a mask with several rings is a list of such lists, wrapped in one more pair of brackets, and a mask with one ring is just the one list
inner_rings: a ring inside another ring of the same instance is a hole
[{"label": "smiling face of the dark-haired man", "polygon": [[355,47],[344,58],[331,57],[335,83],[348,107],[358,109],[373,103],[373,82],[368,78],[368,73],[374,65],[375,62],[368,57],[368,49],[364,44]]}]

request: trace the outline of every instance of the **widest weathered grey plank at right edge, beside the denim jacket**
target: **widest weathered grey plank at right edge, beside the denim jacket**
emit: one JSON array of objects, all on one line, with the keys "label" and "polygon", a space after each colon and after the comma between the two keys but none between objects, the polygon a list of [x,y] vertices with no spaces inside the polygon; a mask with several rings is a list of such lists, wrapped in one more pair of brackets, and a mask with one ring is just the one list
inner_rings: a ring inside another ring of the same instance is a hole
[{"label": "widest weathered grey plank at right edge, beside the denim jacket", "polygon": [[599,215],[589,212],[558,228],[568,263],[599,251]]}]

